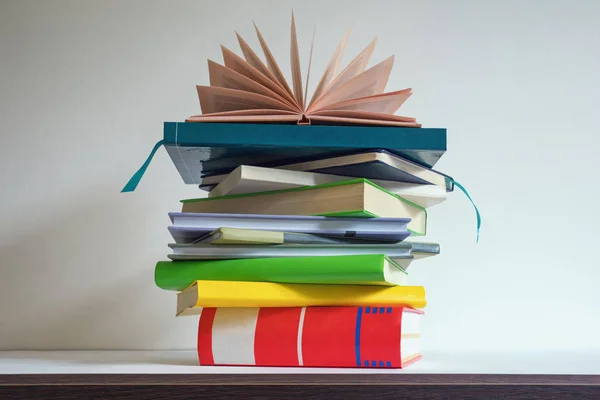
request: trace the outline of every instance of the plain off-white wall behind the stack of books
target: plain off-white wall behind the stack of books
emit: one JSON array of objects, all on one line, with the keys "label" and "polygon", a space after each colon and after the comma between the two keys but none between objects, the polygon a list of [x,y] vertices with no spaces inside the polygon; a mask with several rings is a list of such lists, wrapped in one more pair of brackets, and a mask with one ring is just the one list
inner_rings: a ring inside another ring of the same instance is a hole
[{"label": "plain off-white wall behind the stack of books", "polygon": [[[0,349],[180,349],[195,318],[154,286],[167,212],[197,195],[161,138],[199,112],[196,84],[252,20],[289,71],[294,7],[313,85],[348,25],[344,59],[379,38],[403,114],[448,129],[436,168],[465,185],[430,209],[440,256],[425,285],[425,352],[600,346],[597,1],[0,2]],[[288,76],[290,73],[288,72]]]}]

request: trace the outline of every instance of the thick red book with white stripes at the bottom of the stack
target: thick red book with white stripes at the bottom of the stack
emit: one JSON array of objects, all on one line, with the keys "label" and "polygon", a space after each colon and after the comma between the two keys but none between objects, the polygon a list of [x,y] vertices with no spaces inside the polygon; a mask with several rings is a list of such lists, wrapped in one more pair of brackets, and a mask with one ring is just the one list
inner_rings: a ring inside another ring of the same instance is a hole
[{"label": "thick red book with white stripes at the bottom of the stack", "polygon": [[403,368],[421,358],[410,307],[204,308],[200,365]]}]

